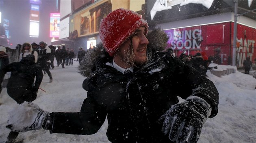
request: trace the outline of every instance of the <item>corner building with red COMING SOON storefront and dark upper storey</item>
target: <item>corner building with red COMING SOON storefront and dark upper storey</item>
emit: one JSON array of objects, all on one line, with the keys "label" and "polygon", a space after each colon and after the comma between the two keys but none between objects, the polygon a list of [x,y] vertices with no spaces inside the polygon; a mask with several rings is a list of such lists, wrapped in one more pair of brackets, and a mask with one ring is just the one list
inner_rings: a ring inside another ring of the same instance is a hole
[{"label": "corner building with red COMING SOON storefront and dark upper storey", "polygon": [[[236,51],[233,56],[234,1],[205,0],[182,3],[182,0],[158,4],[147,1],[150,27],[161,27],[169,36],[167,48],[195,55],[206,52],[218,64],[243,66],[246,57],[256,59],[256,0],[237,0]],[[187,1],[189,2],[189,0]],[[156,7],[157,6],[157,7]],[[171,9],[170,9],[171,7]],[[217,59],[218,58],[218,59]]]}]

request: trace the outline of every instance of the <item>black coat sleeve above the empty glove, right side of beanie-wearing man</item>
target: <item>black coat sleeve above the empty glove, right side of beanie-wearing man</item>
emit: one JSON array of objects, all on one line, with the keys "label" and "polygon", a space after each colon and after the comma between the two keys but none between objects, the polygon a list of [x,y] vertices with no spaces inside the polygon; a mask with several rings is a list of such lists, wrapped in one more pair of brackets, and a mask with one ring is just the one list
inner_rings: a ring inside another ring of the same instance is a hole
[{"label": "black coat sleeve above the empty glove, right side of beanie-wearing man", "polygon": [[184,90],[178,91],[178,96],[186,99],[189,96],[197,96],[204,99],[212,107],[209,118],[213,118],[218,113],[219,93],[217,88],[208,78],[200,74],[193,67],[185,65],[182,61],[171,57],[175,63],[176,81],[178,86],[184,87]]}]

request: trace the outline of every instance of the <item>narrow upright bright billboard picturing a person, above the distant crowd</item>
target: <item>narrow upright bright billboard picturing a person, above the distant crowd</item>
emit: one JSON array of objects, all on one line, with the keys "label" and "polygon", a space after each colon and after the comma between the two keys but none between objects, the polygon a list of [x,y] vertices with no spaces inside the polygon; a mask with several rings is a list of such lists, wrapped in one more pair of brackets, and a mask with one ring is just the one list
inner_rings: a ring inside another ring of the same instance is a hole
[{"label": "narrow upright bright billboard picturing a person, above the distant crowd", "polygon": [[60,13],[50,13],[50,37],[59,38]]}]

